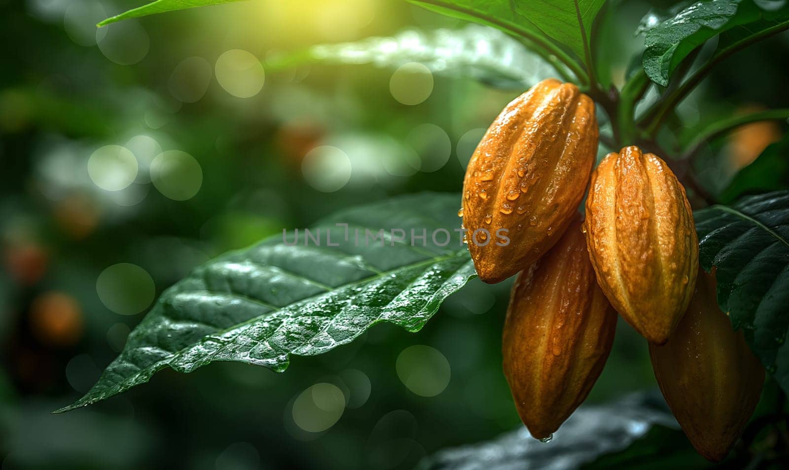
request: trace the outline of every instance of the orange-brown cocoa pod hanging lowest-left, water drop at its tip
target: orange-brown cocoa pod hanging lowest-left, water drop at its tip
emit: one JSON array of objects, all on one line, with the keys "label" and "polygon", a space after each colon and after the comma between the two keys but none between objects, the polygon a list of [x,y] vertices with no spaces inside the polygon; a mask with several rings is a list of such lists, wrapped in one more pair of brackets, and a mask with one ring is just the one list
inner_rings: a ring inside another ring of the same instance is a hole
[{"label": "orange-brown cocoa pod hanging lowest-left, water drop at its tip", "polygon": [[507,308],[504,375],[535,438],[549,438],[589,394],[611,352],[616,319],[576,221],[518,275]]}]

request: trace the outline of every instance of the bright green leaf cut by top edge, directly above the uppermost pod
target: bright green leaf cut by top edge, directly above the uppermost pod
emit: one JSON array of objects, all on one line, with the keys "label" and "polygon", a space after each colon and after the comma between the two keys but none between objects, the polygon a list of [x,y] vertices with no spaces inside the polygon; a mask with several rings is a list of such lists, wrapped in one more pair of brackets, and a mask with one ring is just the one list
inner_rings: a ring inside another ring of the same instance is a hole
[{"label": "bright green leaf cut by top edge, directly above the uppermost pod", "polygon": [[605,0],[518,0],[515,9],[583,58],[584,43],[591,42],[592,24],[604,3]]}]

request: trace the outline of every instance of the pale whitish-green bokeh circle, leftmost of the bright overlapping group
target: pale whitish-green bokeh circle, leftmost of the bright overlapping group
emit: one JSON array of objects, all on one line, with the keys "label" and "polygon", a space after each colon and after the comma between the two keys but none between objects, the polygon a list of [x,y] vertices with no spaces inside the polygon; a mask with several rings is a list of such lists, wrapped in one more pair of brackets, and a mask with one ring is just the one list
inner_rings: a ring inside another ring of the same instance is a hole
[{"label": "pale whitish-green bokeh circle, leftmost of the bright overlapping group", "polygon": [[139,166],[134,154],[120,145],[105,145],[88,159],[88,175],[99,188],[120,191],[137,177]]}]

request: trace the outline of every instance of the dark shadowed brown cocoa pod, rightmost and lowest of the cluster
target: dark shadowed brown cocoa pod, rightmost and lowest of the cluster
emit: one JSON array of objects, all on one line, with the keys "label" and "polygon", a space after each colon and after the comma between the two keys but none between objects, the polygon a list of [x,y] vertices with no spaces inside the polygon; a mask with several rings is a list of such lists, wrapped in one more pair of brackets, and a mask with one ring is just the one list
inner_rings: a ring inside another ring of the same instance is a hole
[{"label": "dark shadowed brown cocoa pod, rightmost and lowest of the cluster", "polygon": [[696,292],[665,345],[649,345],[652,367],[671,412],[698,453],[721,461],[756,408],[765,368],[742,330],[716,302],[714,274],[700,271]]}]

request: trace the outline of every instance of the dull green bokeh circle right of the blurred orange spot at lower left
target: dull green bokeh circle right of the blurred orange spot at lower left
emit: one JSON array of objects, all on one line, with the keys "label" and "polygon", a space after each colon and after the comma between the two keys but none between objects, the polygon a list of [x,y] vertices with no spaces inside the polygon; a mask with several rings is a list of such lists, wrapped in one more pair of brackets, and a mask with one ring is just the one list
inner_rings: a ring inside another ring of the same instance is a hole
[{"label": "dull green bokeh circle right of the blurred orange spot at lower left", "polygon": [[148,271],[131,263],[114,264],[99,274],[96,293],[105,307],[120,315],[136,315],[153,302],[156,286]]}]

